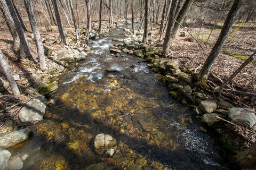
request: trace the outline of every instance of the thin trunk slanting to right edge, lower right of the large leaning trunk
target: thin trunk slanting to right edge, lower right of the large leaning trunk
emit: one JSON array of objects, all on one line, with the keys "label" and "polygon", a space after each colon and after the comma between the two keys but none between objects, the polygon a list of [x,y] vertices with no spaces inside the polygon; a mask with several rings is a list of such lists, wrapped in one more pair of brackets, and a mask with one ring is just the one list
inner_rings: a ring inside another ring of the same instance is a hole
[{"label": "thin trunk slanting to right edge, lower right of the large leaning trunk", "polygon": [[220,93],[222,89],[225,88],[227,84],[230,83],[230,81],[232,81],[236,77],[236,75],[239,72],[241,72],[247,64],[253,61],[253,59],[255,58],[255,54],[256,52],[254,52],[241,66],[239,66],[239,68],[232,75],[230,75],[230,77],[216,91]]}]

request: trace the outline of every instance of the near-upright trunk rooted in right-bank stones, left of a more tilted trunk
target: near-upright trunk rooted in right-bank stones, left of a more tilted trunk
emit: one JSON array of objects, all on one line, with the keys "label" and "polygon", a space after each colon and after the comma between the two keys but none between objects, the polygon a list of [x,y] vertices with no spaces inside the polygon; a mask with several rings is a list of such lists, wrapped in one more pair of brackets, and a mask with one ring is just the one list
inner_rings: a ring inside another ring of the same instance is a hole
[{"label": "near-upright trunk rooted in right-bank stones, left of a more tilted trunk", "polygon": [[163,44],[163,54],[167,53],[169,50],[169,44],[170,44],[170,39],[171,39],[171,31],[174,26],[174,18],[175,18],[175,11],[178,5],[178,0],[173,0],[172,1],[172,6],[171,6],[171,11],[169,14],[169,20],[167,24],[167,29],[165,33],[165,38],[164,38],[164,44]]}]

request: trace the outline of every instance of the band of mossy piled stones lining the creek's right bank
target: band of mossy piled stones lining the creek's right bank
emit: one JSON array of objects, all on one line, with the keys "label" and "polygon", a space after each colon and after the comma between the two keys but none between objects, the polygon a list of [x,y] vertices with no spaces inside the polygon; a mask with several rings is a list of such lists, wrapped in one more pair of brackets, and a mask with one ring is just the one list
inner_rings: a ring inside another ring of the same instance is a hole
[{"label": "band of mossy piled stones lining the creek's right bank", "polygon": [[[230,134],[222,128],[223,122],[220,118],[253,131],[256,129],[256,116],[253,109],[235,107],[223,99],[215,100],[212,94],[207,94],[197,86],[195,74],[189,68],[179,67],[178,61],[164,58],[162,48],[144,45],[137,38],[115,40],[124,43],[123,46],[114,44],[116,49],[119,48],[123,53],[132,54],[148,62],[151,71],[158,74],[161,81],[169,88],[169,94],[179,99],[181,103],[193,107],[195,117],[199,121],[217,133],[221,131],[219,139],[224,146],[233,146],[231,150],[231,147],[226,148],[227,151],[234,153],[241,150],[238,142],[230,140],[234,139],[236,134],[234,132]],[[239,138],[235,137],[235,141],[239,141]]]}]

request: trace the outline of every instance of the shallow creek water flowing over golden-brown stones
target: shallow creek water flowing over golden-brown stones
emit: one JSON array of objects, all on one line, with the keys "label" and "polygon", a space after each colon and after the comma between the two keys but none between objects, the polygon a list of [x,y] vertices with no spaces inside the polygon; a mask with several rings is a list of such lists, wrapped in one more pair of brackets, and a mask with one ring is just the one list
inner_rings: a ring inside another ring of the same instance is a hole
[{"label": "shallow creek water flowing over golden-brown stones", "polygon": [[[159,75],[138,57],[109,53],[123,28],[90,41],[92,53],[62,75],[44,120],[30,126],[33,137],[13,148],[28,155],[23,169],[229,169]],[[113,157],[95,153],[99,133],[117,140]]]}]

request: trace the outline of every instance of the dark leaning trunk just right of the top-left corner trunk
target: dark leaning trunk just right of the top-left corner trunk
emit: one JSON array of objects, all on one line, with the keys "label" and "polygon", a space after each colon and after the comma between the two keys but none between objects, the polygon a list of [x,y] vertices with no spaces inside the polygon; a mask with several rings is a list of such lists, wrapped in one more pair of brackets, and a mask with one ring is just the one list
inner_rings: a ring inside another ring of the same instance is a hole
[{"label": "dark leaning trunk just right of the top-left corner trunk", "polygon": [[[1,0],[1,3],[5,4],[4,0]],[[27,42],[26,35],[25,35],[25,33],[22,29],[22,26],[20,24],[18,16],[17,16],[17,14],[14,10],[14,7],[12,5],[12,2],[10,0],[6,0],[6,4],[9,7],[10,14],[11,14],[12,19],[14,21],[15,29],[16,29],[17,34],[18,34],[19,39],[20,39],[20,52],[21,52],[20,54],[21,54],[21,56],[23,56],[23,57],[27,57],[27,56],[34,57],[30,52],[30,48],[29,48],[29,45],[28,45],[28,42]],[[35,58],[34,58],[34,60],[35,60]]]}]

